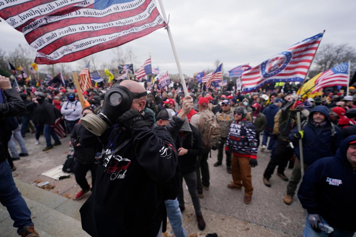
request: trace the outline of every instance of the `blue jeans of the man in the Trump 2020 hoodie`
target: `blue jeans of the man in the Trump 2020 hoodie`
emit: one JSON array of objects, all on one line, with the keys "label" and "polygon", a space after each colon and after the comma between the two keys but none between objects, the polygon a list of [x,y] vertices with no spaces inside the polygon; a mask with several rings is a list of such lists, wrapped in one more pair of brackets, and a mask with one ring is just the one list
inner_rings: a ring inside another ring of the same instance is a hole
[{"label": "blue jeans of the man in the Trump 2020 hoodie", "polygon": [[307,214],[307,220],[305,221],[305,227],[303,230],[303,237],[352,237],[354,236],[353,231],[347,231],[347,230],[340,230],[338,228],[335,228],[334,226],[330,225],[327,221],[325,221],[325,219],[323,217],[320,217],[321,222],[323,222],[324,224],[328,224],[330,227],[334,228],[334,231],[331,232],[330,234],[321,231],[321,232],[315,232],[312,227],[310,226],[309,223],[309,214]]}]

